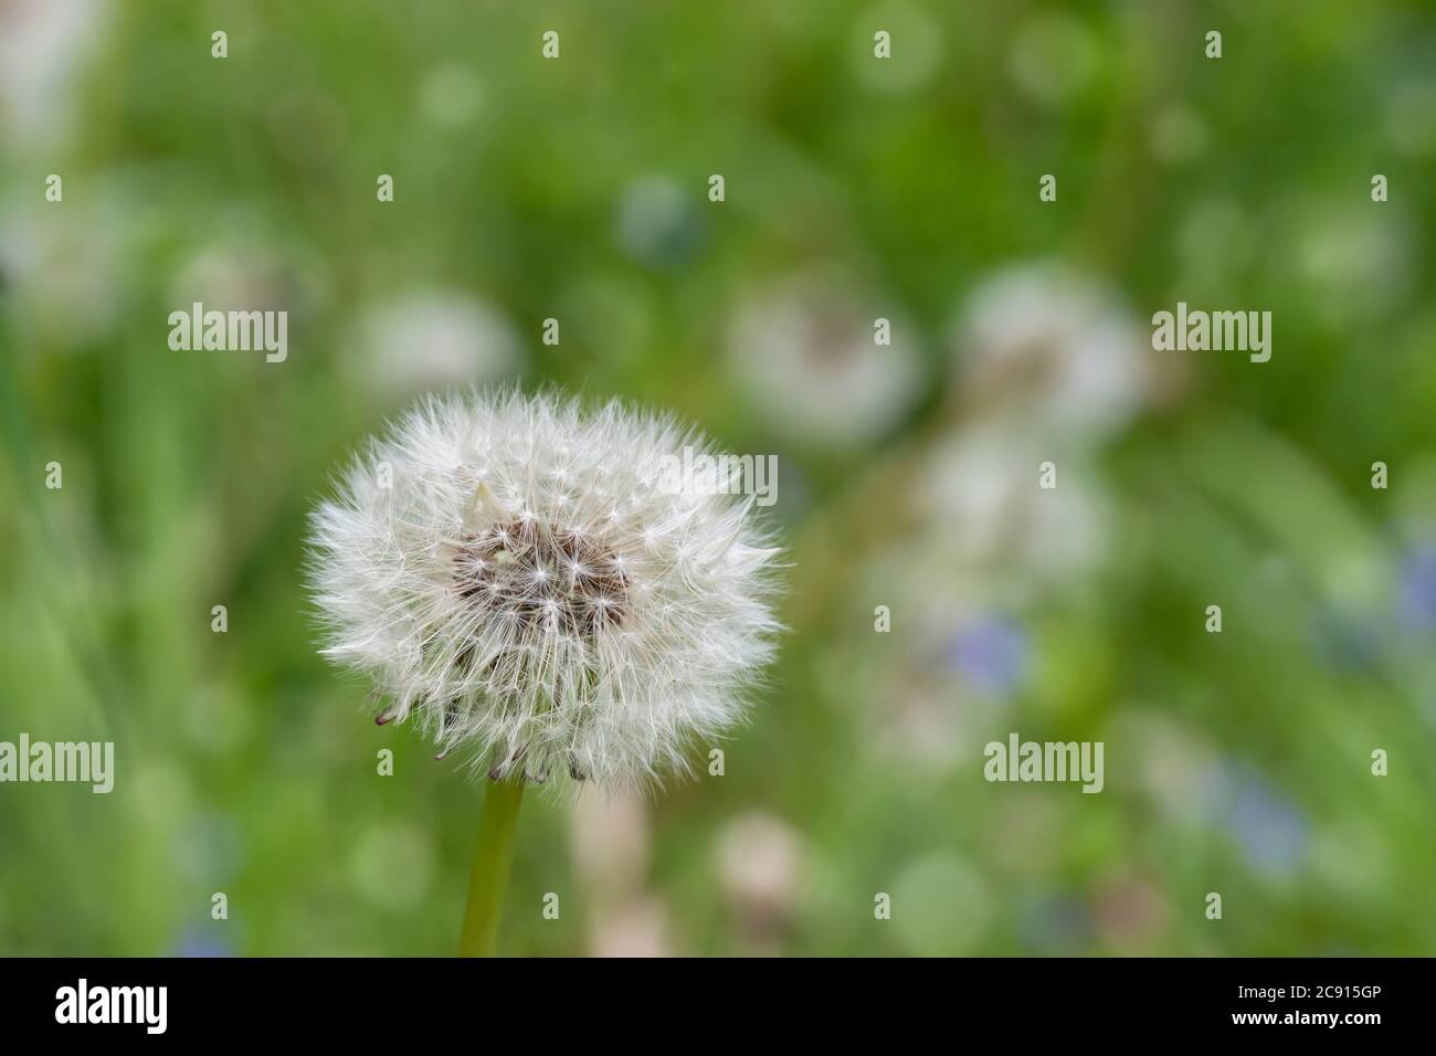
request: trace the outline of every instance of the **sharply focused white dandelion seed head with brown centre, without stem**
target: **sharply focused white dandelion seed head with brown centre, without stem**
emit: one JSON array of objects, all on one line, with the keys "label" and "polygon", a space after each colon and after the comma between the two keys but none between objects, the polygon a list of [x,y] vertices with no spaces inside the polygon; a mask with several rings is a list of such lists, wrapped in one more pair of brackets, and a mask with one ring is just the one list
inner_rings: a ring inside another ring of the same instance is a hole
[{"label": "sharply focused white dandelion seed head with brown centre, without stem", "polygon": [[617,402],[426,399],[313,516],[325,655],[372,680],[381,723],[498,780],[691,773],[778,624],[752,501],[665,477],[685,444]]}]

